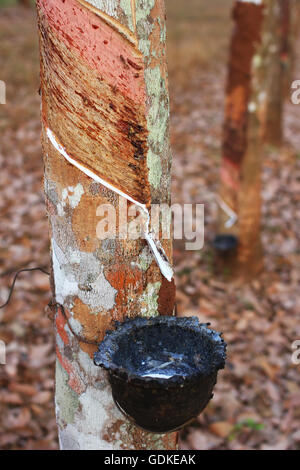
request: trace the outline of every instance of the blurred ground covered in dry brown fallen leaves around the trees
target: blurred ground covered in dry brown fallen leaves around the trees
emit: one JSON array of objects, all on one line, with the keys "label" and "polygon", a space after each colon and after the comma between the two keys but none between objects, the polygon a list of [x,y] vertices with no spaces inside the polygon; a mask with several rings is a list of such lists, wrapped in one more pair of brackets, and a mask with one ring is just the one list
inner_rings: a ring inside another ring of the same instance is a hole
[{"label": "blurred ground covered in dry brown fallen leaves around the trees", "polygon": [[[1,3],[1,2],[0,2]],[[205,246],[176,242],[179,314],[224,332],[228,362],[214,400],[181,435],[183,449],[300,449],[300,106],[287,103],[285,144],[266,149],[263,169],[264,271],[252,283],[214,273],[211,240],[218,187],[230,0],[167,0],[172,107],[173,202],[205,202]],[[0,10],[0,303],[12,274],[49,266],[42,189],[38,45],[33,10]],[[298,48],[299,50],[299,48]],[[294,79],[300,78],[300,60]],[[298,76],[297,76],[298,73]],[[228,274],[228,273],[227,273]],[[0,310],[0,449],[56,449],[54,340],[44,313],[42,273],[23,274]]]}]

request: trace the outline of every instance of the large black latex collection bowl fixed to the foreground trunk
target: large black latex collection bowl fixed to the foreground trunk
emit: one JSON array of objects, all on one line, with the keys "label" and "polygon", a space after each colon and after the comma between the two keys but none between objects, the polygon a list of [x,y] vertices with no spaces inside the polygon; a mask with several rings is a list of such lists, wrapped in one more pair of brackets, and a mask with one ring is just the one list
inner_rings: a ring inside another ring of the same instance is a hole
[{"label": "large black latex collection bowl fixed to the foreground trunk", "polygon": [[155,433],[180,429],[212,398],[226,344],[197,317],[116,322],[95,353],[109,372],[113,398],[137,426]]}]

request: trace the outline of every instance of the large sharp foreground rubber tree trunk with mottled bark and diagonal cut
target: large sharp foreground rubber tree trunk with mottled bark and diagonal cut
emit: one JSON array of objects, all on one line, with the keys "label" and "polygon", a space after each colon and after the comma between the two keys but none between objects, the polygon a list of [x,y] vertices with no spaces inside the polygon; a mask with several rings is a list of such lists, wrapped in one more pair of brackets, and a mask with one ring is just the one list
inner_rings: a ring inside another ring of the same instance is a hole
[{"label": "large sharp foreground rubber tree trunk with mottled bark and diagonal cut", "polygon": [[[174,310],[174,281],[145,240],[97,236],[103,204],[123,230],[128,199],[170,203],[164,2],[38,0],[37,9],[53,296],[67,317],[58,310],[60,447],[175,449],[176,433],[149,434],[124,418],[93,364],[114,320]],[[171,241],[163,245],[171,259]]]}]

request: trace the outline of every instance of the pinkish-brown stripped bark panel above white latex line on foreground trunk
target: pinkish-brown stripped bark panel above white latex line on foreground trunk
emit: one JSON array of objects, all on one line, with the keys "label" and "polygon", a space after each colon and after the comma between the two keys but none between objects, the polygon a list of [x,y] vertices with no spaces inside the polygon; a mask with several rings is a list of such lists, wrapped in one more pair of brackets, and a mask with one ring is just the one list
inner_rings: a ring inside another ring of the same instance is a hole
[{"label": "pinkish-brown stripped bark panel above white latex line on foreground trunk", "polygon": [[46,2],[44,11],[43,79],[51,84],[51,94],[43,95],[46,125],[71,157],[149,202],[143,57],[76,0]]}]

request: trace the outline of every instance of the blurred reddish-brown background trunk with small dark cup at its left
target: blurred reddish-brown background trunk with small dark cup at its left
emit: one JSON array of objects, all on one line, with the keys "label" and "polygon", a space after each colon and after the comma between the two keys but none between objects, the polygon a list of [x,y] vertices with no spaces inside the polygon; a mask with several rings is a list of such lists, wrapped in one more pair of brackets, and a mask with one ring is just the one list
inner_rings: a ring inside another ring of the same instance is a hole
[{"label": "blurred reddish-brown background trunk with small dark cup at its left", "polygon": [[262,267],[259,97],[264,11],[256,0],[235,2],[226,87],[220,196],[238,221],[226,228],[228,216],[220,212],[218,232],[238,237],[237,251],[222,260],[221,267],[241,279],[251,278]]}]

